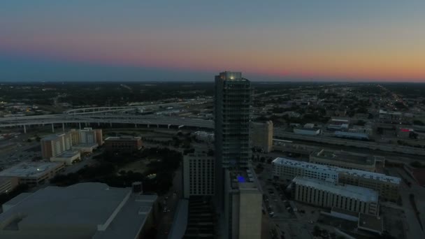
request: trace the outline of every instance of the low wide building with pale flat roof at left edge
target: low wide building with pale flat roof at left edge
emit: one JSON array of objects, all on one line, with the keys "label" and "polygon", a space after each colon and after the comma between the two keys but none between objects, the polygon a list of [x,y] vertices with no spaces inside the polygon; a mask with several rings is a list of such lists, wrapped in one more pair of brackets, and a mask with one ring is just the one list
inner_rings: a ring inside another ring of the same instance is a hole
[{"label": "low wide building with pale flat roof at left edge", "polygon": [[52,162],[22,162],[0,172],[1,177],[13,177],[20,184],[28,184],[30,187],[44,184],[46,180],[64,168],[64,163]]}]

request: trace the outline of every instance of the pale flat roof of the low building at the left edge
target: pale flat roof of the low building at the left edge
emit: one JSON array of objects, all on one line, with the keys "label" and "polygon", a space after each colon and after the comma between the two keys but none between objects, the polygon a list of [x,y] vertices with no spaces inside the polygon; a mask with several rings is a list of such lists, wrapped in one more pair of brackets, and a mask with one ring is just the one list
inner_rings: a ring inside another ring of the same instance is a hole
[{"label": "pale flat roof of the low building at the left edge", "polygon": [[0,177],[37,178],[38,176],[43,175],[45,171],[50,171],[61,165],[62,163],[55,162],[22,162],[12,168],[7,168],[4,171],[1,171]]}]

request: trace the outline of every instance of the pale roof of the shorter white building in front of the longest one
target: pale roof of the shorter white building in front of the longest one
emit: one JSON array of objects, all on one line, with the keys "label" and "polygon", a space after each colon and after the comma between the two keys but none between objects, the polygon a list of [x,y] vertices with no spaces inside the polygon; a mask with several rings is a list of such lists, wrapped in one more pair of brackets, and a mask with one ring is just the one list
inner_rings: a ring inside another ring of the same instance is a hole
[{"label": "pale roof of the shorter white building in front of the longest one", "polygon": [[366,187],[357,187],[353,185],[339,185],[324,180],[318,180],[315,178],[304,178],[295,177],[292,182],[296,184],[304,185],[305,187],[312,187],[315,189],[329,191],[333,194],[339,194],[349,198],[356,198],[360,201],[365,202],[377,202],[378,193],[372,189]]}]

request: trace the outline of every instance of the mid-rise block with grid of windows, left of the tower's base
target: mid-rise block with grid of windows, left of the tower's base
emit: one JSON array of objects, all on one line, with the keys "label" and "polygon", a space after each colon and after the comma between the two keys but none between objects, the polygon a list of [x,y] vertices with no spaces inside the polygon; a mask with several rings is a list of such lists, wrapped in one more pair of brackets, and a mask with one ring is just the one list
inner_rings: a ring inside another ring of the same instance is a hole
[{"label": "mid-rise block with grid of windows, left of the tower's base", "polygon": [[207,154],[187,154],[183,157],[183,196],[214,195],[215,158]]}]

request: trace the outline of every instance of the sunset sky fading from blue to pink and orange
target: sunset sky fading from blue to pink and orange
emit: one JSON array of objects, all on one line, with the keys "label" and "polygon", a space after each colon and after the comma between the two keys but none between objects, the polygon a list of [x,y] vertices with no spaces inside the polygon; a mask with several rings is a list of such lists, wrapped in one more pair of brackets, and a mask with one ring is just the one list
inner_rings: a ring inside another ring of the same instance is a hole
[{"label": "sunset sky fading from blue to pink and orange", "polygon": [[0,81],[425,82],[425,1],[1,0]]}]

